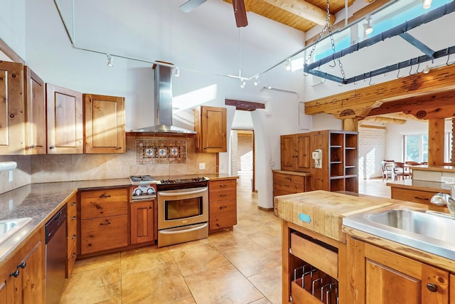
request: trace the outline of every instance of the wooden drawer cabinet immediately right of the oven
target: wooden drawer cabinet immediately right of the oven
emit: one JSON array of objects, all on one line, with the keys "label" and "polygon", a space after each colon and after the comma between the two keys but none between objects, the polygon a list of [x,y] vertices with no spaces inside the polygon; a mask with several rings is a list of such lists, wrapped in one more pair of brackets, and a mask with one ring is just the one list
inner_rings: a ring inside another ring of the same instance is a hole
[{"label": "wooden drawer cabinet immediately right of the oven", "polygon": [[225,179],[208,183],[209,231],[237,224],[237,180]]}]

